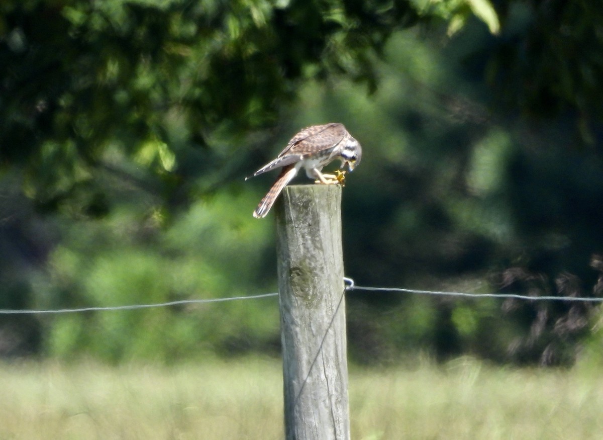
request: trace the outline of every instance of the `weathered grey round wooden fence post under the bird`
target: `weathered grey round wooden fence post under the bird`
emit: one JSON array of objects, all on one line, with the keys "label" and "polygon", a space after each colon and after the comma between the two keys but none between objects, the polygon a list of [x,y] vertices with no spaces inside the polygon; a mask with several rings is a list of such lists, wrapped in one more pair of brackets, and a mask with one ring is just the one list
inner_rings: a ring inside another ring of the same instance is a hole
[{"label": "weathered grey round wooden fence post under the bird", "polygon": [[341,187],[285,187],[277,255],[287,440],[349,440]]}]

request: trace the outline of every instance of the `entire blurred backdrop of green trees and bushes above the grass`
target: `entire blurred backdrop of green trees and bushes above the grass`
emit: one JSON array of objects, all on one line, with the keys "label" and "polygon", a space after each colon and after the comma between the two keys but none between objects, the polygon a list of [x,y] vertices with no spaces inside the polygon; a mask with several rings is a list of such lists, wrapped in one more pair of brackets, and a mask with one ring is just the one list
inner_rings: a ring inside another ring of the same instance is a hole
[{"label": "entire blurred backdrop of green trees and bushes above the grass", "polygon": [[[0,308],[276,291],[273,176],[303,126],[364,147],[359,285],[603,295],[603,11],[577,0],[8,0]],[[303,182],[303,177],[300,178]],[[348,296],[359,363],[603,356],[583,304]],[[0,315],[0,356],[277,354],[273,299]]]}]

